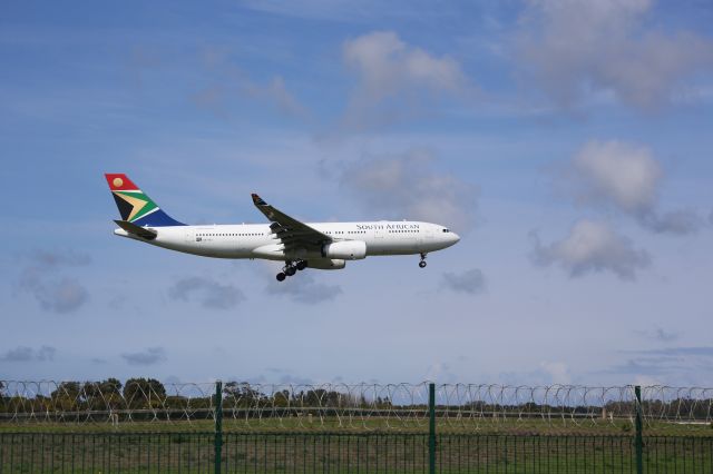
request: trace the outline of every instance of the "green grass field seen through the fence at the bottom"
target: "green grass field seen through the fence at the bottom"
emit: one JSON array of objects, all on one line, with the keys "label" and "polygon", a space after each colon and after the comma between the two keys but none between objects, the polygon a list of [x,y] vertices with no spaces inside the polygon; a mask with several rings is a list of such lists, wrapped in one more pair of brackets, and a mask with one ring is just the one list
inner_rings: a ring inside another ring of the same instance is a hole
[{"label": "green grass field seen through the fence at the bottom", "polygon": [[[713,473],[713,429],[644,426],[645,472]],[[223,421],[226,473],[428,470],[424,419]],[[0,423],[0,473],[208,473],[214,422]],[[633,473],[632,423],[437,419],[441,473]]]}]

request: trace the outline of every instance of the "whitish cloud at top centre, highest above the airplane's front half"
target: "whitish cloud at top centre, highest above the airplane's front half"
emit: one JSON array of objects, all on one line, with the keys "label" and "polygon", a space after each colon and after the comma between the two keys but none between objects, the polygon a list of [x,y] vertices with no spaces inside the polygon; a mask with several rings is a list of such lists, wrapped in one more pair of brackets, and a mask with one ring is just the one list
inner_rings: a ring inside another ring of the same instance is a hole
[{"label": "whitish cloud at top centre, highest above the airplane's front half", "polygon": [[403,42],[392,31],[374,31],[343,46],[346,67],[356,76],[344,126],[358,130],[393,121],[443,95],[458,95],[468,81],[460,65]]}]

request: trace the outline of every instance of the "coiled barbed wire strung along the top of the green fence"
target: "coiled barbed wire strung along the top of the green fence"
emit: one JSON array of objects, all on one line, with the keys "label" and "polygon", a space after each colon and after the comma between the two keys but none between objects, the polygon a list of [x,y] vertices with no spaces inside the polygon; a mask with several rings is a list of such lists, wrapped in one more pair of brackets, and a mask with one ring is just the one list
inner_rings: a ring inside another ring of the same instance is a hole
[{"label": "coiled barbed wire strung along the top of the green fence", "polygon": [[[0,381],[0,424],[182,423],[209,428],[216,383]],[[407,429],[428,426],[429,384],[248,384],[221,388],[232,429]],[[713,427],[713,388],[438,384],[439,428],[631,431],[641,409],[648,429]]]}]

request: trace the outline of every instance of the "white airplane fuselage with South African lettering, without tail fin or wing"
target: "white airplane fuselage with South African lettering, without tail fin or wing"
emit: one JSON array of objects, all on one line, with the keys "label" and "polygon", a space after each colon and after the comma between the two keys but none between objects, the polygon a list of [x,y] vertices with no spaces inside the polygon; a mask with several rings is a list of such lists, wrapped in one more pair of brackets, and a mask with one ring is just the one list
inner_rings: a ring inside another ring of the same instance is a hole
[{"label": "white airplane fuselage with South African lettering, without tail fin or wing", "polygon": [[[418,221],[307,223],[333,241],[356,240],[367,245],[367,256],[428,254],[450,247],[458,235],[443,226]],[[291,260],[323,258],[315,250],[295,249],[286,255],[284,245],[267,224],[175,226],[153,228],[157,236],[146,240],[116,229],[123,237],[157,247],[215,258],[264,258]]]}]

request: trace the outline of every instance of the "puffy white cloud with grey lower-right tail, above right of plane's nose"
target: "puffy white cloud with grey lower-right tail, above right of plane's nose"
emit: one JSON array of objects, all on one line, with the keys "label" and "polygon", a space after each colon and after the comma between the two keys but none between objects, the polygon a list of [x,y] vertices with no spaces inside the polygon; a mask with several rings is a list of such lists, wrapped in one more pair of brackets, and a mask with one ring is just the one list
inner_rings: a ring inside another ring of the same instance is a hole
[{"label": "puffy white cloud with grey lower-right tail, above right of plane's nose", "polygon": [[579,203],[614,207],[654,233],[695,233],[702,221],[694,211],[658,209],[663,177],[648,147],[618,140],[590,140],[575,154],[565,174],[565,184]]}]

